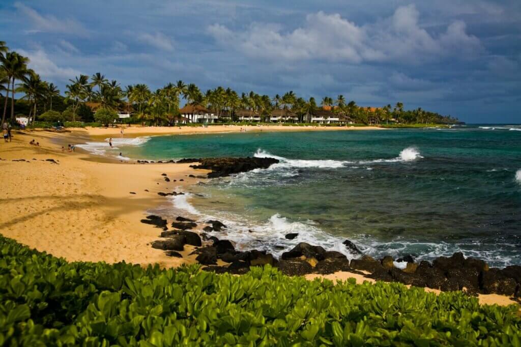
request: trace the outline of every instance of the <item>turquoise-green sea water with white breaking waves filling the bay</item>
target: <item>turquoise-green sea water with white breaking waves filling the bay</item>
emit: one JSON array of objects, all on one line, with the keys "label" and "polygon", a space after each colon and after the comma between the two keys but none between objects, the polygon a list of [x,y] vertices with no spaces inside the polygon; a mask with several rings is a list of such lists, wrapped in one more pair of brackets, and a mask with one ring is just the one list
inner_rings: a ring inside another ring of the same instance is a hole
[{"label": "turquoise-green sea water with white breaking waves filling the bay", "polygon": [[280,254],[307,241],[345,253],[348,238],[375,256],[463,251],[505,266],[521,264],[521,131],[509,129],[521,127],[176,135],[121,148],[131,158],[279,158],[173,202],[226,220],[244,249]]}]

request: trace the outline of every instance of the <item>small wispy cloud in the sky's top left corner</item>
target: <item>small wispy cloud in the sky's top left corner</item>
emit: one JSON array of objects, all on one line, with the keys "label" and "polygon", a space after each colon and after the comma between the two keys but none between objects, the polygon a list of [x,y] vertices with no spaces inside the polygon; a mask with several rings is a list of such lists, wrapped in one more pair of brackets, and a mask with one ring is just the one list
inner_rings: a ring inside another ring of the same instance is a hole
[{"label": "small wispy cloud in the sky's top left corner", "polygon": [[86,35],[88,31],[82,24],[73,19],[59,20],[53,15],[41,15],[33,8],[26,6],[20,2],[16,2],[14,6],[24,16],[28,17],[28,23],[34,28],[29,32],[57,32],[67,34]]}]

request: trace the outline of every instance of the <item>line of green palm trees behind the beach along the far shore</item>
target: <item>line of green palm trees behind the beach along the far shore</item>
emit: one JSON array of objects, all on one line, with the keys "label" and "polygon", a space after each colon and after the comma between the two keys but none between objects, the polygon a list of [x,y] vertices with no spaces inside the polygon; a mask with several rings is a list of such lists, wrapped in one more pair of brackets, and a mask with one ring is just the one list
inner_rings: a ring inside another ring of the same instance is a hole
[{"label": "line of green palm trees behind the beach along the far shore", "polygon": [[[457,119],[443,116],[417,108],[404,110],[404,105],[397,102],[382,107],[361,107],[354,101],[346,102],[343,95],[336,98],[323,97],[319,102],[314,97],[305,99],[297,96],[293,91],[282,95],[260,95],[253,91],[240,95],[231,88],[217,86],[215,89],[202,92],[194,83],[185,84],[183,81],[168,83],[163,88],[152,91],[146,84],[133,84],[121,88],[116,80],[108,80],[101,72],[91,77],[80,75],[69,80],[66,85],[65,97],[53,83],[43,81],[38,73],[28,68],[29,59],[9,51],[6,43],[0,41],[0,93],[4,96],[4,123],[8,109],[10,93],[10,121],[15,122],[15,94],[22,93],[22,99],[29,104],[29,118],[34,122],[38,111],[44,113],[53,110],[53,98],[63,101],[67,106],[61,114],[67,120],[75,121],[78,114],[85,117],[85,103],[95,102],[101,109],[127,110],[132,112],[133,119],[141,122],[172,124],[179,117],[181,99],[187,105],[200,106],[212,110],[219,118],[237,120],[236,112],[247,109],[269,120],[274,109],[284,109],[296,115],[299,122],[306,122],[319,109],[329,109],[332,113],[346,117],[356,123],[382,123],[389,121],[399,123],[452,123]],[[16,82],[19,83],[16,83]],[[81,112],[79,112],[81,111]],[[54,111],[54,114],[59,114]],[[107,114],[115,114],[107,113]]]}]

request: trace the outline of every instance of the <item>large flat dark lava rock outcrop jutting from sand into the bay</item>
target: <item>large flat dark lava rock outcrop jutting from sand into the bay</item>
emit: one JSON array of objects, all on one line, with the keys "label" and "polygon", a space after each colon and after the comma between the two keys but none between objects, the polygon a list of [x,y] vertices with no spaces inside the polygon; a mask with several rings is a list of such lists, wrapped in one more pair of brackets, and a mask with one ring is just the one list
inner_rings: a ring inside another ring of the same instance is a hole
[{"label": "large flat dark lava rock outcrop jutting from sand into the bay", "polygon": [[267,169],[279,162],[275,158],[202,158],[200,165],[190,165],[194,169],[212,170],[208,178],[230,176],[232,173],[246,172],[254,169]]}]

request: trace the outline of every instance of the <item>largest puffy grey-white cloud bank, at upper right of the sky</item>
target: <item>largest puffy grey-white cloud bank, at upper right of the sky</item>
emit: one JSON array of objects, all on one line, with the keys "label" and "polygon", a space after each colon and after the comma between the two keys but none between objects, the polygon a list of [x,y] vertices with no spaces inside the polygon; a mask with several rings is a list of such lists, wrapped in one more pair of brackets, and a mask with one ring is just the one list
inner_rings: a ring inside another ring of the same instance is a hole
[{"label": "largest puffy grey-white cloud bank, at upper right of the sky", "polygon": [[452,22],[436,36],[421,28],[419,18],[416,7],[409,5],[397,8],[389,18],[364,25],[319,11],[289,32],[265,23],[253,23],[244,31],[216,23],[207,32],[221,45],[270,60],[420,63],[472,57],[482,50],[479,39],[466,33],[463,21]]}]

